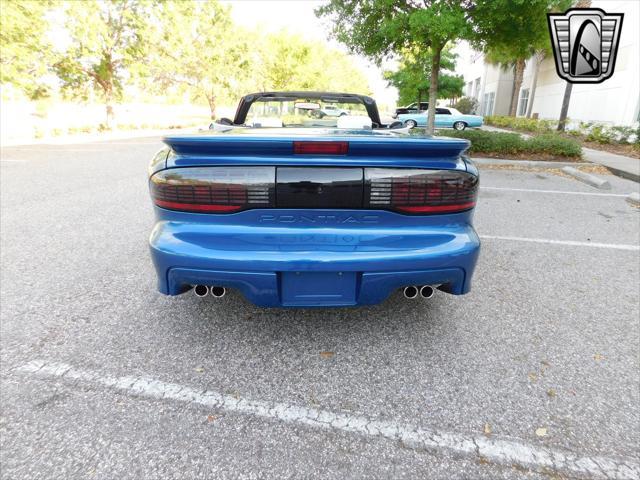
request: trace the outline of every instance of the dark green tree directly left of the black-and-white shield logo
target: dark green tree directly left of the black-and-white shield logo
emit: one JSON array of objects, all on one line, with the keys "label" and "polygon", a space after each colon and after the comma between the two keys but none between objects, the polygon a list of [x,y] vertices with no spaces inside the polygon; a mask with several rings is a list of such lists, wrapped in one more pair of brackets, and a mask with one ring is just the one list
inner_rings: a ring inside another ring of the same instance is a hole
[{"label": "dark green tree directly left of the black-and-white shield logo", "polygon": [[481,0],[476,16],[477,41],[490,62],[513,67],[509,115],[514,117],[527,59],[551,51],[547,13],[570,0]]}]

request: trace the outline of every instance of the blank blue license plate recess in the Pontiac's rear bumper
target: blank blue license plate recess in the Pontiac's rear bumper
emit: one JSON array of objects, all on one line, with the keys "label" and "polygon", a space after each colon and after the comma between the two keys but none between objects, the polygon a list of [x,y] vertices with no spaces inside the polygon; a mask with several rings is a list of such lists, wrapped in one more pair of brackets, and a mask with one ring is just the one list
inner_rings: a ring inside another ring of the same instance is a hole
[{"label": "blank blue license plate recess in the Pontiac's rear bumper", "polygon": [[280,294],[286,306],[355,305],[356,272],[282,272]]}]

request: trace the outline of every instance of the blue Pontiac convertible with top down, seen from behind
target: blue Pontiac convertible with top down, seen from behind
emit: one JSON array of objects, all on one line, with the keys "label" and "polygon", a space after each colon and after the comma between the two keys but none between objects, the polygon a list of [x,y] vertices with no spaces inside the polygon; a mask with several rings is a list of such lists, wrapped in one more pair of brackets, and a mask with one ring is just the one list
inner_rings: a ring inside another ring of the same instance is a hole
[{"label": "blue Pontiac convertible with top down, seen from behind", "polygon": [[[349,113],[314,115],[327,106]],[[469,143],[401,126],[369,97],[272,92],[166,137],[149,166],[160,292],[233,288],[269,307],[467,293],[480,248]]]}]

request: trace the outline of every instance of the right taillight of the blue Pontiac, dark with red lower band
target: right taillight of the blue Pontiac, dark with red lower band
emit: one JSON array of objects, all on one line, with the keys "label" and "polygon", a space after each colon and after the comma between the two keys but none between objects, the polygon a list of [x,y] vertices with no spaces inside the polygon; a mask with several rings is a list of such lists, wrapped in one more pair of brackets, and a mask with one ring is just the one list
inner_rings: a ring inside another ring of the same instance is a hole
[{"label": "right taillight of the blue Pontiac, dark with red lower band", "polygon": [[365,169],[368,208],[453,213],[476,204],[478,177],[455,170]]}]

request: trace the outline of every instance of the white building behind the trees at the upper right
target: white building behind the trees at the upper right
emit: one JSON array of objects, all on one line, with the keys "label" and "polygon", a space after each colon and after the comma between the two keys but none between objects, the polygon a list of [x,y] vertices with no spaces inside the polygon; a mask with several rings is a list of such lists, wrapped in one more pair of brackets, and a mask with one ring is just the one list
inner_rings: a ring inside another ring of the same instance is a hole
[{"label": "white building behind the trees at the upper right", "polygon": [[[624,13],[613,76],[602,83],[573,86],[568,117],[574,121],[632,125],[640,120],[640,0],[594,0],[592,8]],[[513,70],[484,62],[482,53],[467,44],[456,48],[457,73],[464,75],[464,94],[479,102],[482,115],[507,115],[513,90]],[[526,63],[522,87],[518,93],[518,116],[529,107],[536,59]],[[532,116],[557,120],[566,82],[556,73],[553,55],[540,63],[531,110]]]}]

